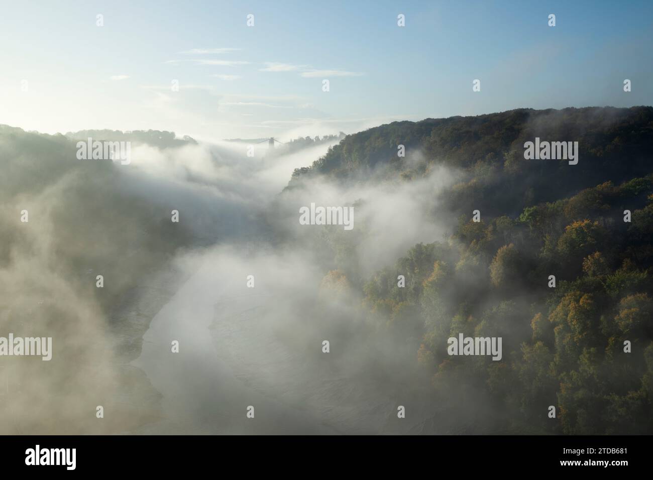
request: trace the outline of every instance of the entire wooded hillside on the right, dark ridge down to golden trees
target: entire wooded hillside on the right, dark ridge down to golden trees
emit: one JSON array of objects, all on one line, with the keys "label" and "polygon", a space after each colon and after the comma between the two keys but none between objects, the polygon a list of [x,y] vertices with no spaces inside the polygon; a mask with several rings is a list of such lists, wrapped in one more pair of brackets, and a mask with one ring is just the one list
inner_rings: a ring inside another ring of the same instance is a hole
[{"label": "entire wooded hillside on the right, dark ridge down to golden trees", "polygon": [[[579,163],[524,159],[535,137],[579,142]],[[486,420],[494,431],[644,434],[653,428],[652,149],[650,107],[395,122],[347,136],[295,170],[287,191],[319,179],[415,182],[439,165],[459,172],[432,212],[459,218],[450,234],[365,280],[338,261],[328,278],[362,295],[368,326],[397,349],[408,344],[436,391],[462,402],[470,391],[460,385],[472,385],[496,411]],[[502,360],[447,355],[459,333],[502,337]]]}]

